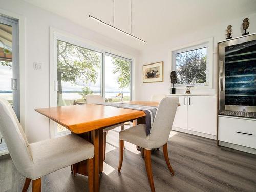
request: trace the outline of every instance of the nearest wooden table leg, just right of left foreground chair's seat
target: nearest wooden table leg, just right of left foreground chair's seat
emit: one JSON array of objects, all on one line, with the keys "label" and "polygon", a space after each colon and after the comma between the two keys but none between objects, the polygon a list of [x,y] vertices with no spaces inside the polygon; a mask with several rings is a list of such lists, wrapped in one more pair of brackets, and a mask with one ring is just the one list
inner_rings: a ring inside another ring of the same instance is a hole
[{"label": "nearest wooden table leg, just right of left foreground chair's seat", "polygon": [[99,191],[99,130],[91,132],[94,144],[94,192]]}]

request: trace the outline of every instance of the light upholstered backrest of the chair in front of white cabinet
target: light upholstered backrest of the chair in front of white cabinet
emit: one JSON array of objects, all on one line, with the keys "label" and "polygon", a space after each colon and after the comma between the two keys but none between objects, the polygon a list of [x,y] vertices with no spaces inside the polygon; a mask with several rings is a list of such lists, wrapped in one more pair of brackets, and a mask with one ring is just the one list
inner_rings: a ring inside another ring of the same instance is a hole
[{"label": "light upholstered backrest of the chair in front of white cabinet", "polygon": [[157,142],[158,146],[164,145],[169,139],[178,102],[179,97],[165,97],[158,105],[149,138]]}]

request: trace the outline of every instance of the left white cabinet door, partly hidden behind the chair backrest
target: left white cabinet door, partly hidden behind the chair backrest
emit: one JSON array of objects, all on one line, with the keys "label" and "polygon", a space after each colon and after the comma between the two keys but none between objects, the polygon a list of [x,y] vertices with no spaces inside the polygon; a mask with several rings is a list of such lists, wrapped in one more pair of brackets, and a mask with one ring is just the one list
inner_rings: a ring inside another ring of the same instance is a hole
[{"label": "left white cabinet door, partly hidden behind the chair backrest", "polygon": [[[172,97],[172,96],[170,96]],[[179,127],[182,129],[187,129],[187,96],[176,96],[179,97],[180,106],[178,106],[175,118],[174,127]]]}]

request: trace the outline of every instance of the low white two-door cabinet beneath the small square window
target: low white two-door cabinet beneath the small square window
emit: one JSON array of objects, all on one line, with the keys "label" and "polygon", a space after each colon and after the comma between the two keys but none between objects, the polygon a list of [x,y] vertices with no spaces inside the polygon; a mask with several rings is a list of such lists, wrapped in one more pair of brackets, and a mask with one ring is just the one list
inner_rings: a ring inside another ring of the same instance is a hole
[{"label": "low white two-door cabinet beneath the small square window", "polygon": [[[196,95],[167,95],[179,97],[173,127],[187,133],[217,135],[217,97]],[[177,130],[177,129],[176,129]],[[178,130],[180,131],[180,130]],[[192,132],[191,132],[192,131]],[[200,134],[197,134],[200,135]],[[203,136],[203,135],[200,135]]]}]

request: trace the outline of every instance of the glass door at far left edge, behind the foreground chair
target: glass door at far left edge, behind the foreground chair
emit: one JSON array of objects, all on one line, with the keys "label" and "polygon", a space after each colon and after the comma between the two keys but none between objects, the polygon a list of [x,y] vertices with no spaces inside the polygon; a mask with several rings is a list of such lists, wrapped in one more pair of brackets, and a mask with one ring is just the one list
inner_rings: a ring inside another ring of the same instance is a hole
[{"label": "glass door at far left edge, behind the foreground chair", "polygon": [[[19,118],[18,22],[0,16],[0,98],[6,99]],[[0,151],[5,148],[0,133]]]}]

